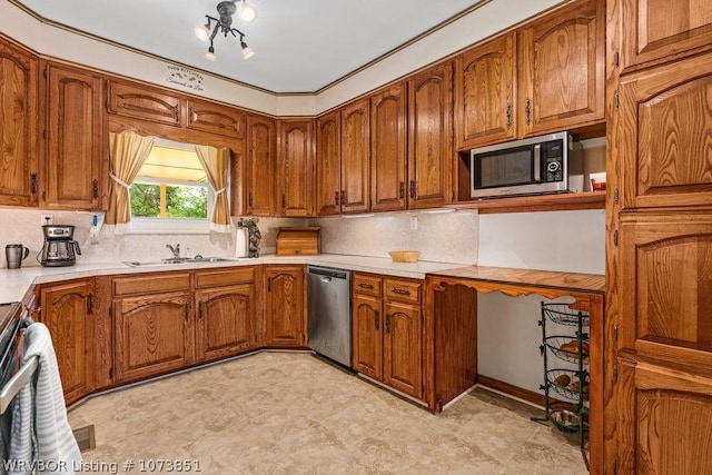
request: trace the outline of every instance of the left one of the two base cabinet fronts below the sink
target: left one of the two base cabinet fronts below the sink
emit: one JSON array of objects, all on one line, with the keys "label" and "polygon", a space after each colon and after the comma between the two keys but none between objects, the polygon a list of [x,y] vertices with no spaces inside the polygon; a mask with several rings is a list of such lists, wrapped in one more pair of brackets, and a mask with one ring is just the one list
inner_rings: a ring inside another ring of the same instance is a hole
[{"label": "left one of the two base cabinet fronts below the sink", "polygon": [[190,273],[117,277],[112,285],[116,383],[195,362]]}]

